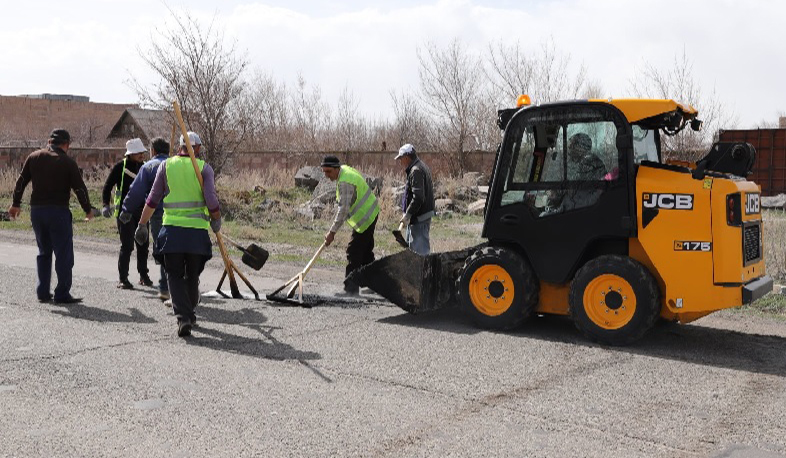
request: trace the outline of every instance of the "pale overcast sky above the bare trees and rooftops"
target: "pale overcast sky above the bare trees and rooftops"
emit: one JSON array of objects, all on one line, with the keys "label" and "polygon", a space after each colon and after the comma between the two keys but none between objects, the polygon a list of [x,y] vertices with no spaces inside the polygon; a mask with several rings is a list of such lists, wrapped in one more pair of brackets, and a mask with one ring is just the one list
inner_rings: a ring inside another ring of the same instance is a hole
[{"label": "pale overcast sky above the bare trees and rooftops", "polygon": [[[683,49],[694,76],[739,117],[786,111],[786,2],[776,0],[170,0],[214,15],[253,69],[293,83],[298,72],[333,105],[345,87],[367,116],[389,116],[391,89],[418,86],[416,49],[455,38],[472,49],[553,40],[604,95],[631,96],[645,63],[668,69]],[[63,93],[135,103],[138,49],[169,17],[161,0],[2,0],[0,94]],[[149,79],[148,79],[149,81]],[[537,98],[537,94],[532,94]],[[513,101],[511,101],[513,103]],[[701,113],[701,107],[697,107]]]}]

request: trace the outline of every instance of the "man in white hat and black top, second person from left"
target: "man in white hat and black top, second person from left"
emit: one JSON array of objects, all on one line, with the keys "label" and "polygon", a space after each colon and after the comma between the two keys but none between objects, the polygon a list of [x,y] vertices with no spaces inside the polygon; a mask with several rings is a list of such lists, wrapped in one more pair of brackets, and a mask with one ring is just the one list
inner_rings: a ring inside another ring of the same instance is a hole
[{"label": "man in white hat and black top, second person from left", "polygon": [[[147,275],[147,253],[149,243],[145,242],[140,245],[134,240],[134,231],[139,222],[139,217],[142,214],[142,208],[140,207],[136,213],[132,213],[130,219],[124,216],[124,219],[126,219],[125,222],[121,221],[119,218],[123,199],[126,197],[126,194],[128,194],[131,183],[134,181],[134,178],[136,178],[136,174],[145,161],[146,152],[147,149],[145,149],[145,145],[142,144],[142,140],[133,138],[127,141],[125,157],[112,167],[112,171],[109,173],[104,183],[104,192],[102,193],[104,208],[101,214],[109,218],[114,213],[115,218],[117,218],[117,232],[120,234],[120,254],[117,258],[117,271],[120,281],[117,287],[121,289],[134,288],[134,285],[128,281],[128,265],[131,263],[131,253],[134,251],[134,246],[136,246],[136,269],[139,272],[139,284],[153,286],[153,281],[150,280],[150,277]],[[112,189],[115,190],[114,212],[109,206],[109,198],[112,194]]]}]

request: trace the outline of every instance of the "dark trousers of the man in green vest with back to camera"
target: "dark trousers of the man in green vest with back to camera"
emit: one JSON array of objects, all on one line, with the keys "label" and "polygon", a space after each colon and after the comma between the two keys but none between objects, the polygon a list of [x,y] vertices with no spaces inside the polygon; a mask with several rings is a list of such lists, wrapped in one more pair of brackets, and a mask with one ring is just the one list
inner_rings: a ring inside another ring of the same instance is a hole
[{"label": "dark trousers of the man in green vest with back to camera", "polygon": [[164,253],[164,267],[169,281],[169,296],[178,323],[196,319],[199,303],[199,275],[207,258],[193,253]]}]

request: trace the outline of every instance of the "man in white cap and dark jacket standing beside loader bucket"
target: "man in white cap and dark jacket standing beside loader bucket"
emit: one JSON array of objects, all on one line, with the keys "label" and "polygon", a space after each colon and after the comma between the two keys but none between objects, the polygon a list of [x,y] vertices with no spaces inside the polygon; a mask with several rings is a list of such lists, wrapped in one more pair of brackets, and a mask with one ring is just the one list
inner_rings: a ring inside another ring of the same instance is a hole
[{"label": "man in white cap and dark jacket standing beside loader bucket", "polygon": [[431,252],[429,232],[434,216],[434,183],[431,170],[418,158],[415,147],[407,143],[398,150],[396,162],[407,174],[400,223],[407,227],[409,249],[425,256]]}]

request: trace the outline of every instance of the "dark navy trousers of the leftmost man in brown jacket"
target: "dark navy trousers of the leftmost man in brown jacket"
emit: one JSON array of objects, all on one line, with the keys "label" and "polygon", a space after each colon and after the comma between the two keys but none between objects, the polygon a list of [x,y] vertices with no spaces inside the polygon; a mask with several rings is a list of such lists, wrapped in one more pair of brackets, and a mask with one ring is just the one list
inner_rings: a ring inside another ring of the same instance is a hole
[{"label": "dark navy trousers of the leftmost man in brown jacket", "polygon": [[55,255],[57,286],[55,300],[71,297],[71,269],[74,267],[74,228],[71,210],[54,205],[36,205],[30,208],[35,240],[38,243],[36,268],[38,283],[36,294],[39,299],[52,297],[52,253]]}]

